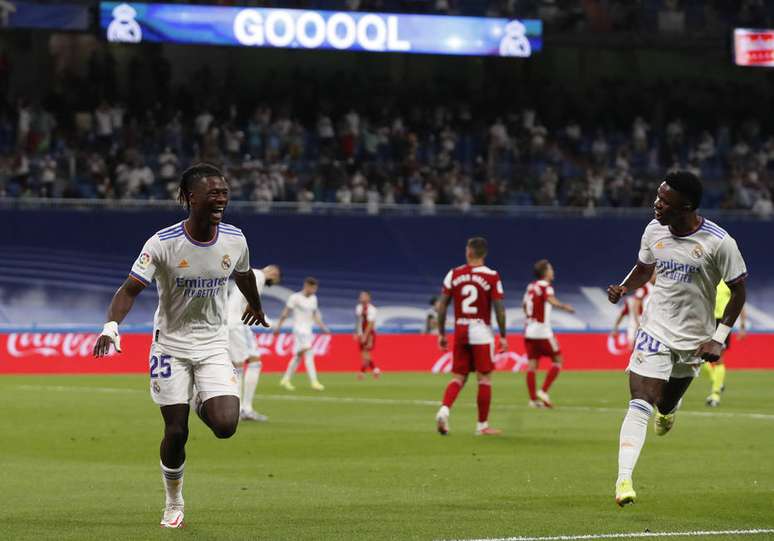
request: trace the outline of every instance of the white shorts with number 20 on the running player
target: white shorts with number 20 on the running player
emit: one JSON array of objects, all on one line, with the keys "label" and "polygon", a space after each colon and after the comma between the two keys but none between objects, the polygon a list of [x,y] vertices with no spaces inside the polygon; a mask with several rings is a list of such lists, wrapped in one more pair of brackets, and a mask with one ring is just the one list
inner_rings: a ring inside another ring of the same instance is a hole
[{"label": "white shorts with number 20 on the running player", "polygon": [[677,351],[668,348],[640,329],[634,339],[627,372],[646,378],[695,378],[699,375],[702,358],[695,351]]}]

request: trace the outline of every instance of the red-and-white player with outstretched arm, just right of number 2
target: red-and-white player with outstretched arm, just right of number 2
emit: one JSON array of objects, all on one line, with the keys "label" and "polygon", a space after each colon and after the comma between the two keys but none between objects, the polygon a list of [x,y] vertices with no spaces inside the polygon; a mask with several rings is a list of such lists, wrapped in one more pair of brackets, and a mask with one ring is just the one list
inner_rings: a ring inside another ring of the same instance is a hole
[{"label": "red-and-white player with outstretched arm, just right of number 2", "polygon": [[[547,259],[541,259],[534,266],[535,280],[527,286],[524,293],[524,314],[527,317],[524,329],[524,347],[527,350],[527,390],[529,405],[533,408],[552,408],[548,389],[562,369],[562,352],[559,342],[551,329],[551,307],[573,313],[569,304],[559,302],[554,295],[554,267]],[[551,358],[551,368],[543,381],[543,387],[537,390],[535,372],[541,357]]]}]

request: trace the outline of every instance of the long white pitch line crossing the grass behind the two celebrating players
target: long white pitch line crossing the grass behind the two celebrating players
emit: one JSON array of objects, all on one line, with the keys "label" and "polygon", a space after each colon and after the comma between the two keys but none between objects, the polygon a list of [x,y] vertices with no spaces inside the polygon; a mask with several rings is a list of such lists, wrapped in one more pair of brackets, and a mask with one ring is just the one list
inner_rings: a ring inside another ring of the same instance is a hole
[{"label": "long white pitch line crossing the grass behind the two celebrating players", "polygon": [[[93,392],[93,393],[143,393],[147,391],[140,389],[127,389],[120,387],[85,387],[85,386],[73,386],[66,385],[16,385],[17,389],[26,391],[77,391],[77,392]],[[354,396],[304,396],[304,395],[277,395],[277,394],[257,394],[256,400],[276,400],[284,402],[329,402],[329,403],[342,403],[342,404],[372,404],[372,405],[384,405],[384,406],[438,406],[437,400],[419,400],[419,399],[403,399],[403,398],[368,398],[368,397],[354,397]],[[467,407],[467,406],[463,406]],[[472,407],[472,406],[471,406]],[[525,407],[517,404],[499,404],[497,409],[501,410],[526,410]],[[557,411],[587,411],[591,413],[625,413],[626,408],[597,408],[592,406],[560,406],[556,408]],[[546,412],[550,415],[550,413]],[[726,418],[738,418],[743,417],[746,419],[758,419],[763,421],[774,421],[774,414],[770,413],[754,413],[754,412],[722,412],[722,411],[681,411],[680,415],[688,415],[692,417],[726,417]]]}]

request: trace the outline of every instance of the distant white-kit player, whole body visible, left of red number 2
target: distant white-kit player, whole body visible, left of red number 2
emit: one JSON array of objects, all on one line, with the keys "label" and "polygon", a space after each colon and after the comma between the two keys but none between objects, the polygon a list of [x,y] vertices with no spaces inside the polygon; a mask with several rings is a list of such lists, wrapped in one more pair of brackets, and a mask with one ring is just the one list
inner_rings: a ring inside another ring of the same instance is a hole
[{"label": "distant white-kit player, whole body visible, left of red number 2", "polygon": [[317,288],[316,278],[309,277],[304,280],[304,288],[301,291],[293,293],[288,297],[288,302],[282,310],[279,322],[274,328],[274,335],[278,335],[280,327],[293,314],[293,358],[290,359],[285,375],[280,380],[280,385],[288,391],[295,390],[290,379],[296,372],[296,368],[301,363],[301,357],[304,358],[304,368],[309,376],[309,383],[315,391],[323,391],[325,387],[317,380],[317,367],[314,364],[314,350],[312,342],[314,334],[312,329],[317,324],[324,333],[329,333],[330,329],[326,327],[320,317],[320,310],[317,307]]}]

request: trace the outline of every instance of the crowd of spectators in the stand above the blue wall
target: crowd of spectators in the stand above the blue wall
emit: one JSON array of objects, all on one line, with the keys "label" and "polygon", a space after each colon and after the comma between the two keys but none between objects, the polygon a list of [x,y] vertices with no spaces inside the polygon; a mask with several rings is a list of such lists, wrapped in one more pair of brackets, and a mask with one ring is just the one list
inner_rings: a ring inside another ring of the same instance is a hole
[{"label": "crowd of spectators in the stand above the blue wall", "polygon": [[666,170],[708,186],[705,206],[772,213],[774,136],[755,119],[695,130],[635,115],[626,130],[568,120],[547,126],[530,107],[475,118],[463,103],[320,109],[309,122],[281,103],[212,104],[185,115],[121,102],[71,111],[40,103],[0,115],[0,195],[171,199],[179,173],[222,165],[232,197],[274,201],[573,207],[645,206]]}]

